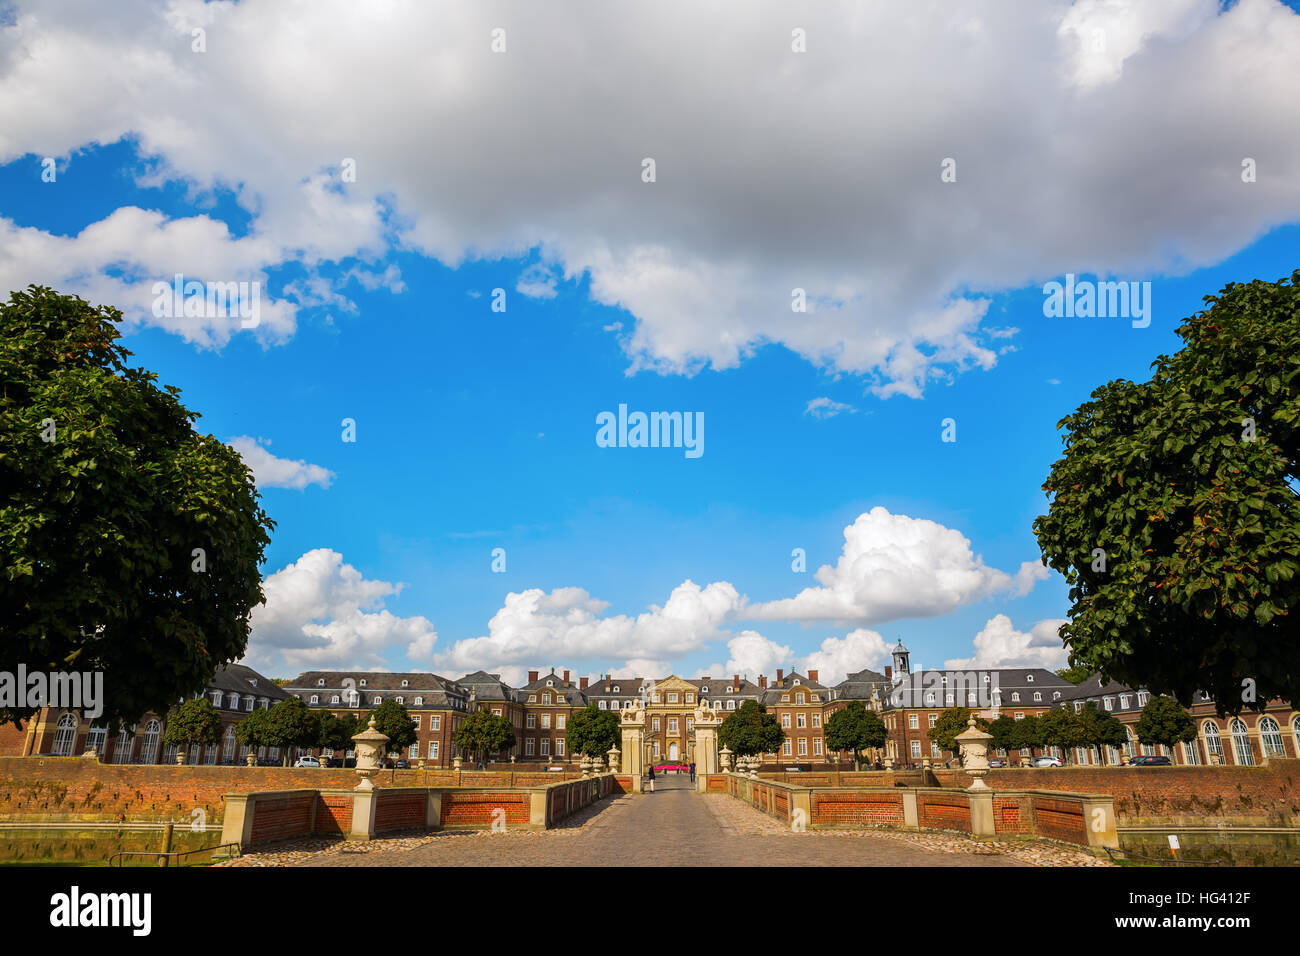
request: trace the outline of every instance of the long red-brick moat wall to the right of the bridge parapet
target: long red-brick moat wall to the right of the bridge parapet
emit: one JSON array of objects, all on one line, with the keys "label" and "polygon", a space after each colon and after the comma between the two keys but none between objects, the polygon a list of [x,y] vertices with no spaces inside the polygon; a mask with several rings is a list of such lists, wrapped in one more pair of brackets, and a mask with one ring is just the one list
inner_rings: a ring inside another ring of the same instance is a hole
[{"label": "long red-brick moat wall to the right of the bridge parapet", "polygon": [[[961,770],[936,770],[945,787],[967,787]],[[1264,767],[1005,767],[984,782],[993,790],[1061,790],[1109,793],[1121,825],[1144,818],[1251,817],[1278,826],[1300,825],[1300,761]]]}]

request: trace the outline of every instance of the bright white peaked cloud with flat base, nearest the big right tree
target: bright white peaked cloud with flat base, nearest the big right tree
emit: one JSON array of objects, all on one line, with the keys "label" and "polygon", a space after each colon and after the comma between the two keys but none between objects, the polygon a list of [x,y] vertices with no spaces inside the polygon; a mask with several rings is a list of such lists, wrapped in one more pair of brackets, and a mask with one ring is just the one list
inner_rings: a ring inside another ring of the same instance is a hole
[{"label": "bright white peaked cloud with flat base, nearest the big right tree", "polygon": [[820,587],[749,605],[744,617],[859,624],[932,618],[998,592],[1027,593],[1045,576],[1046,568],[1028,561],[1015,576],[998,571],[959,531],[874,507],[844,529],[840,559],[818,568]]}]

